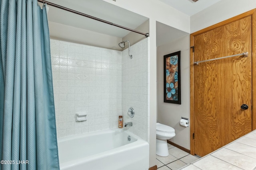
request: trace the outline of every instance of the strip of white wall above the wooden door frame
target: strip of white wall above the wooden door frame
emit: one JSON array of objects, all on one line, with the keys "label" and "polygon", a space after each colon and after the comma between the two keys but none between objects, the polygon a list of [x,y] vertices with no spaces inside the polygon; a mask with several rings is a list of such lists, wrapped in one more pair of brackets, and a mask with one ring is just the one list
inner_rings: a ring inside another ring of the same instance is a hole
[{"label": "strip of white wall above the wooden door frame", "polygon": [[256,8],[256,0],[221,0],[190,17],[190,33]]}]

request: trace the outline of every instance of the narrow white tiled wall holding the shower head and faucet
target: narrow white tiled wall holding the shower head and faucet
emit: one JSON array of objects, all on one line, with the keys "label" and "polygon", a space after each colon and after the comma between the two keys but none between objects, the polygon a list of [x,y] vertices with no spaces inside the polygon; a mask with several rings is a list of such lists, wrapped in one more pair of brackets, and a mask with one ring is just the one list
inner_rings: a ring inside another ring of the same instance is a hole
[{"label": "narrow white tiled wall holding the shower head and faucet", "polygon": [[[132,133],[149,142],[149,38],[134,44],[122,51],[122,113],[124,121],[132,122],[126,127]],[[134,117],[127,116],[129,107],[134,109]]]}]

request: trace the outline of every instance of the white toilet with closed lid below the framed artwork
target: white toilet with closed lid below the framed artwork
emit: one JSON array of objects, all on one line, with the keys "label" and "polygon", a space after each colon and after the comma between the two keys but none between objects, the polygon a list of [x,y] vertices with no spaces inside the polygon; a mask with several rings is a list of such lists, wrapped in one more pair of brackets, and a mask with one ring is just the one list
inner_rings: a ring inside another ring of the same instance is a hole
[{"label": "white toilet with closed lid below the framed artwork", "polygon": [[168,156],[167,139],[175,136],[175,130],[167,125],[156,123],[156,154],[159,156]]}]

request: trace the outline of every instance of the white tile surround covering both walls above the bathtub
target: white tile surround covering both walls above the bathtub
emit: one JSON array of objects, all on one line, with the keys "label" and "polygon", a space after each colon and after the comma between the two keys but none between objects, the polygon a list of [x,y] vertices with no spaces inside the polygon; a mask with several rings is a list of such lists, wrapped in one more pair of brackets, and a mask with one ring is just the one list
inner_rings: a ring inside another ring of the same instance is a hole
[{"label": "white tile surround covering both walls above the bathtub", "polygon": [[[116,128],[118,115],[132,121],[125,129],[149,141],[148,38],[116,51],[51,39],[57,136]],[[135,115],[128,118],[128,108]],[[76,122],[76,113],[87,121]]]}]

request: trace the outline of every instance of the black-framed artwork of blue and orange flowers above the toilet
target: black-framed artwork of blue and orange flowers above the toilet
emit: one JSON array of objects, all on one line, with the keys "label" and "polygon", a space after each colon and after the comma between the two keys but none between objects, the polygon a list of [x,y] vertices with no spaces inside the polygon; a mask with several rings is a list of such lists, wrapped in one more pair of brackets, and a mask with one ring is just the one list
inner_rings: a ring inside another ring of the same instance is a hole
[{"label": "black-framed artwork of blue and orange flowers above the toilet", "polygon": [[180,51],[164,55],[164,102],[181,104]]}]

